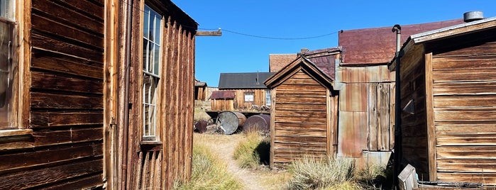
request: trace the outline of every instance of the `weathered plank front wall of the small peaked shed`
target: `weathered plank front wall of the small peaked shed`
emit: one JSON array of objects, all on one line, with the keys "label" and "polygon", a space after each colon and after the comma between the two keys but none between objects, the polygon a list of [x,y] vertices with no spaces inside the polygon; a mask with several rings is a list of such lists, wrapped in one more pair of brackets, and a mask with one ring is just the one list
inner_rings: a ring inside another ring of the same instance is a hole
[{"label": "weathered plank front wall of the small peaked shed", "polygon": [[271,167],[284,167],[304,155],[326,157],[328,89],[300,70],[272,90]]}]

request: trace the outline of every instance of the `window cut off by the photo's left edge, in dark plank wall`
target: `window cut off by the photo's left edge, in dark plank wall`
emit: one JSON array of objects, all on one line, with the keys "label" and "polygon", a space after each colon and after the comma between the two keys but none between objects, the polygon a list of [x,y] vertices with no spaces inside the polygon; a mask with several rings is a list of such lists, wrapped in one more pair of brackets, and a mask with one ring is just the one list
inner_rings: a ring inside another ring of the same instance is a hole
[{"label": "window cut off by the photo's left edge, in dark plank wall", "polygon": [[13,109],[13,0],[0,0],[0,128],[15,128]]}]

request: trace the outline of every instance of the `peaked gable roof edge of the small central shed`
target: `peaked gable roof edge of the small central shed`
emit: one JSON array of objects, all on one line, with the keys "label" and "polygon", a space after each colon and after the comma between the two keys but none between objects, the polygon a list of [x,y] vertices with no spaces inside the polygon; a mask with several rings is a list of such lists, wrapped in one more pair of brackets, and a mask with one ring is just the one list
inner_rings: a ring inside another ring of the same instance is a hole
[{"label": "peaked gable roof edge of the small central shed", "polygon": [[296,60],[280,69],[279,72],[272,75],[272,77],[269,77],[264,83],[268,88],[273,89],[285,82],[285,80],[289,79],[293,74],[299,72],[299,70],[304,70],[310,77],[316,79],[323,86],[332,89],[333,80],[303,55],[298,55]]}]

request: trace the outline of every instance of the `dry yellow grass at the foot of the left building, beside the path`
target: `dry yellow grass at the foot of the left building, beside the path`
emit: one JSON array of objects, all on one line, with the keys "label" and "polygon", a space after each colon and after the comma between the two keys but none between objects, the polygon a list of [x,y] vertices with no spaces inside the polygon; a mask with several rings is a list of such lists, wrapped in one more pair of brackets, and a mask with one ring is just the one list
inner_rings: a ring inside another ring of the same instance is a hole
[{"label": "dry yellow grass at the foot of the left building, beside the path", "polygon": [[227,172],[226,163],[209,147],[194,143],[192,179],[175,189],[242,189],[241,181]]}]

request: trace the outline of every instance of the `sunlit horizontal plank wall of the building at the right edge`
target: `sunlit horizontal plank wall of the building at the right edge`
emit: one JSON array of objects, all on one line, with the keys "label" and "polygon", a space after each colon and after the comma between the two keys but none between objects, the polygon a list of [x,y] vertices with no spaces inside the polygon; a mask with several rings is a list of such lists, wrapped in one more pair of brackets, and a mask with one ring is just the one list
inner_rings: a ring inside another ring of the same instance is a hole
[{"label": "sunlit horizontal plank wall of the building at the right edge", "polygon": [[[432,89],[439,181],[496,184],[496,38],[453,49],[434,46]],[[475,35],[474,35],[475,36]],[[446,46],[444,46],[446,47]]]}]

